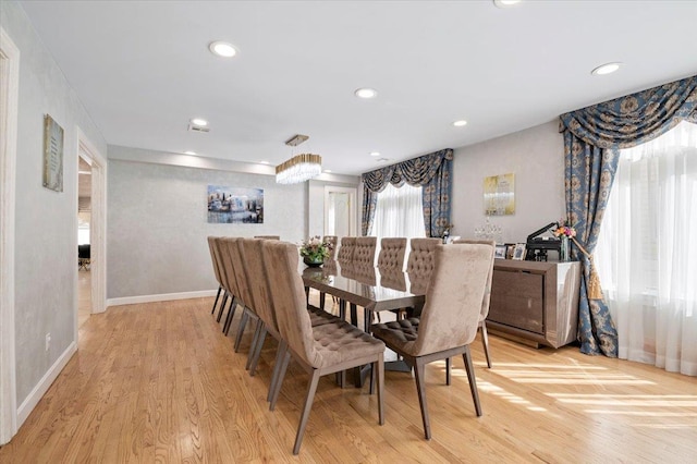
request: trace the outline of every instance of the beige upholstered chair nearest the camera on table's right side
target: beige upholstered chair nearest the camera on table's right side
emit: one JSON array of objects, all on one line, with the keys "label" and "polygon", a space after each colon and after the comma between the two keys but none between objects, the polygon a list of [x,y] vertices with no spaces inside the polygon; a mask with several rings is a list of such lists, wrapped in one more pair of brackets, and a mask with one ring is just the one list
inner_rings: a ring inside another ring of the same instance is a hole
[{"label": "beige upholstered chair nearest the camera on table's right side", "polygon": [[371,327],[376,338],[414,367],[427,440],[431,438],[425,382],[428,363],[462,354],[475,411],[481,416],[469,344],[477,333],[492,261],[493,246],[490,245],[439,245],[420,319],[416,319],[416,323],[403,319]]}]

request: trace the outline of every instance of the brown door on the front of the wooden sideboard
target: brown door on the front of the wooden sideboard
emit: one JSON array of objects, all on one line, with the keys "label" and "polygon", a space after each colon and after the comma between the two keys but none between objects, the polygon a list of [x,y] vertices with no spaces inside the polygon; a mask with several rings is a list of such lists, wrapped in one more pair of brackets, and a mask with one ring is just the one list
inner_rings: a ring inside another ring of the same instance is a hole
[{"label": "brown door on the front of the wooden sideboard", "polygon": [[494,269],[487,319],[545,334],[545,276]]}]

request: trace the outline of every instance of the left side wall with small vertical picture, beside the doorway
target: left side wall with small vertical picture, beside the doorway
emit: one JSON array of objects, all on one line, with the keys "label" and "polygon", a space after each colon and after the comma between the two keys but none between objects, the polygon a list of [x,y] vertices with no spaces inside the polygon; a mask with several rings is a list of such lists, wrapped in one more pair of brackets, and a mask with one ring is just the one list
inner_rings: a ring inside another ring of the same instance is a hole
[{"label": "left side wall with small vertical picture, beside the doorway", "polygon": [[[14,2],[0,2],[0,24],[21,53],[14,281],[22,422],[75,349],[77,126],[103,154],[107,145],[24,11]],[[41,186],[46,113],[64,131],[62,193]]]}]

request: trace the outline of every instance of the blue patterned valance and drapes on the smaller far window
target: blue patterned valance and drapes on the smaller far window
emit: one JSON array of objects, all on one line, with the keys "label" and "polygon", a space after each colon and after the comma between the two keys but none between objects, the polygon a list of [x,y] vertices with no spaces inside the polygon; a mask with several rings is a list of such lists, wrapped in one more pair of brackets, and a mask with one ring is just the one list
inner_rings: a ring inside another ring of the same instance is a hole
[{"label": "blue patterned valance and drapes on the smaller far window", "polygon": [[426,236],[441,236],[445,227],[450,224],[452,171],[453,150],[445,148],[363,174],[363,235],[369,235],[371,232],[378,193],[382,192],[388,183],[400,187],[406,182],[423,187]]}]

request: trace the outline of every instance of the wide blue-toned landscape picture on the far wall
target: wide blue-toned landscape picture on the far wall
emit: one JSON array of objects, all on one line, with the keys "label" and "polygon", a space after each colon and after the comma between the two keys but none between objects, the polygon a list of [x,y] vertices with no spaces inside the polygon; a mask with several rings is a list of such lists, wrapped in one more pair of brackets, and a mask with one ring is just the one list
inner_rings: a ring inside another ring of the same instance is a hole
[{"label": "wide blue-toned landscape picture on the far wall", "polygon": [[264,188],[208,185],[208,222],[262,224]]}]

